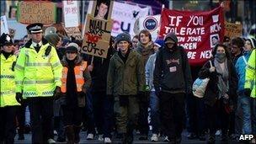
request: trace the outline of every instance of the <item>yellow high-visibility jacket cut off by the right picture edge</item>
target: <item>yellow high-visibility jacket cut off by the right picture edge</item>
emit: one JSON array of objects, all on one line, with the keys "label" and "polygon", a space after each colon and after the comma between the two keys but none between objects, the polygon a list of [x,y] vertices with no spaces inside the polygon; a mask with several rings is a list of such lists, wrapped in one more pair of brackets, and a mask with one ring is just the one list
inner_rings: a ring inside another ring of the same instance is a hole
[{"label": "yellow high-visibility jacket cut off by the right picture edge", "polygon": [[248,59],[244,88],[252,89],[251,97],[256,98],[256,51],[253,50],[251,56]]}]

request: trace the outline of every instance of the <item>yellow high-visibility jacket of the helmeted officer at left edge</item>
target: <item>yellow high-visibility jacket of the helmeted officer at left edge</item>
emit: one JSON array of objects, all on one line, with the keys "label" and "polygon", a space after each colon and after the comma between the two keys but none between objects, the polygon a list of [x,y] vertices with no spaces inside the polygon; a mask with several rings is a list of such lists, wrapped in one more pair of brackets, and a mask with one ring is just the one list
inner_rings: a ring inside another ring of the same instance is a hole
[{"label": "yellow high-visibility jacket of the helmeted officer at left edge", "polygon": [[11,55],[6,59],[3,54],[0,58],[0,107],[20,105],[15,99],[15,79],[14,71],[12,70],[13,62],[16,61],[16,56]]}]

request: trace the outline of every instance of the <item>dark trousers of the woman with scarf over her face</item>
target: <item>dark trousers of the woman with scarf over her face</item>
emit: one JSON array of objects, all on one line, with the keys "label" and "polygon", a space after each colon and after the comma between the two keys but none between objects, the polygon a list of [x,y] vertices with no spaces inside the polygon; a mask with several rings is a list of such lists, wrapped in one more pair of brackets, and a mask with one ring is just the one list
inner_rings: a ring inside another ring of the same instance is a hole
[{"label": "dark trousers of the woman with scarf over her face", "polygon": [[[216,101],[213,106],[206,105],[206,114],[210,135],[214,136],[217,128],[221,128],[222,135],[227,134],[229,114],[227,114],[222,99]],[[220,124],[218,125],[218,122]]]}]

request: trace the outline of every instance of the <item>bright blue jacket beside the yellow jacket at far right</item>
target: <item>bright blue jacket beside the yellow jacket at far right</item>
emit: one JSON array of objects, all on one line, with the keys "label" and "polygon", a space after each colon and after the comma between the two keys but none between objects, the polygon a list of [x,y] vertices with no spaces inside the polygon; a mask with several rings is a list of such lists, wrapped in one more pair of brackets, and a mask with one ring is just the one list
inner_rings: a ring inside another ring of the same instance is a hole
[{"label": "bright blue jacket beside the yellow jacket at far right", "polygon": [[[251,52],[248,53],[244,53],[244,57],[246,59],[246,61],[248,61]],[[236,63],[236,72],[237,72],[237,77],[238,77],[238,85],[237,85],[237,93],[243,93],[243,89],[244,89],[244,82],[245,82],[245,69],[246,69],[246,63],[243,60],[243,56],[240,56],[237,59],[237,63]]]}]

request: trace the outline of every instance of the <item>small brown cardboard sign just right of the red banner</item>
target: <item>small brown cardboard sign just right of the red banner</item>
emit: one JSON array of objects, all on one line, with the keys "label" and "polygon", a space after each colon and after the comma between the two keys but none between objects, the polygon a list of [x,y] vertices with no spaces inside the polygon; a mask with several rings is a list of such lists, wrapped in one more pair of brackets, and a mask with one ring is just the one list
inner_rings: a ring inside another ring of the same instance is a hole
[{"label": "small brown cardboard sign just right of the red banner", "polygon": [[225,22],[225,36],[232,39],[242,35],[243,25]]}]

